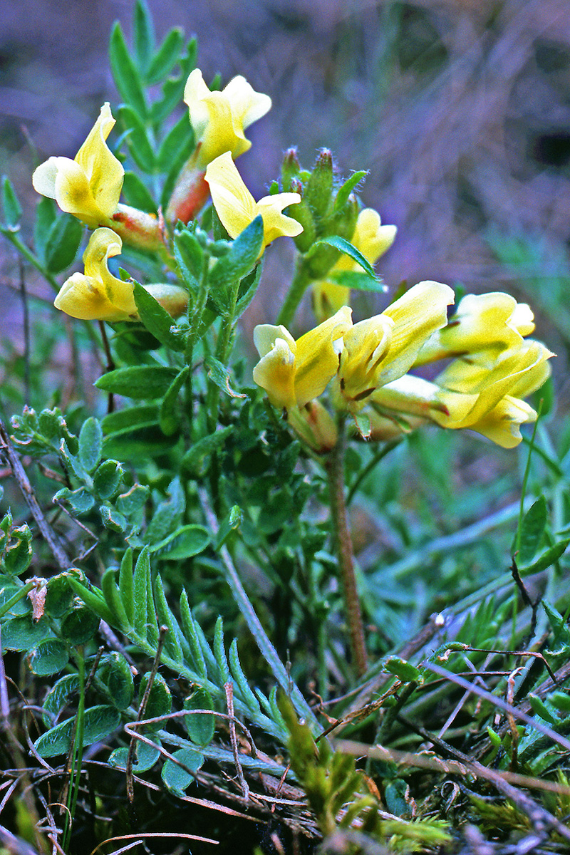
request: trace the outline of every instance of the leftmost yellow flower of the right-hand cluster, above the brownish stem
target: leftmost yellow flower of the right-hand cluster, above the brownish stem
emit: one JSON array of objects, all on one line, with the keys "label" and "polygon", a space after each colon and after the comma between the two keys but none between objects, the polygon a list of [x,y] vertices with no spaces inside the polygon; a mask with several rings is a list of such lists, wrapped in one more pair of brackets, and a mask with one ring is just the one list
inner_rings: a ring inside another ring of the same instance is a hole
[{"label": "leftmost yellow flower of the right-hand cluster, above the brownish stem", "polygon": [[261,357],[253,379],[274,407],[295,410],[318,398],[338,369],[338,339],[350,328],[351,310],[336,315],[295,341],[285,327],[261,324],[254,342]]}]

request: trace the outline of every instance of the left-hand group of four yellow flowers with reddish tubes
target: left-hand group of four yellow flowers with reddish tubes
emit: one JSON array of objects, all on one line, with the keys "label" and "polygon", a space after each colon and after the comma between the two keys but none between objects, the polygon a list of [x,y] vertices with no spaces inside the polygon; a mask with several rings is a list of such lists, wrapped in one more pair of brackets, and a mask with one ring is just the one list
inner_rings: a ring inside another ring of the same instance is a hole
[{"label": "left-hand group of four yellow flowers with reddish tubes", "polygon": [[[186,82],[184,100],[196,146],[173,189],[167,221],[191,219],[210,192],[232,238],[259,214],[264,225],[263,248],[281,235],[302,232],[297,221],[283,214],[285,207],[300,201],[299,194],[278,193],[256,202],[233,162],[250,148],[244,131],[267,113],[271,98],[256,92],[241,76],[234,77],[223,91],[210,91],[202,72],[195,69]],[[144,251],[168,250],[164,221],[119,202],[125,170],[107,145],[114,126],[109,103],[104,103],[73,160],[50,157],[32,176],[38,193],[55,199],[62,211],[95,229],[84,255],[85,274],[73,274],[55,301],[57,308],[77,318],[136,318],[132,285],[109,274],[107,260],[120,252],[123,241]],[[178,286],[165,283],[147,286],[147,290],[174,315],[188,302],[180,299]]]}]

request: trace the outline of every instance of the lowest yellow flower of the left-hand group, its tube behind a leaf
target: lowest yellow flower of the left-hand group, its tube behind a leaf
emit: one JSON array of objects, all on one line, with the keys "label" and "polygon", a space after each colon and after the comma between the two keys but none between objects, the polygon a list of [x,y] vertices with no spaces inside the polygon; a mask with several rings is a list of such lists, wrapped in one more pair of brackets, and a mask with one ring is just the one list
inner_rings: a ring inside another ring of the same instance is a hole
[{"label": "lowest yellow flower of the left-hand group, its tube behind a leaf", "polygon": [[[82,321],[136,321],[132,282],[109,273],[109,258],[118,256],[121,249],[122,241],[115,232],[97,228],[83,255],[85,274],[74,273],[63,283],[54,300],[56,309]],[[170,315],[180,315],[188,304],[188,292],[179,286],[160,283],[145,287]]]}]

